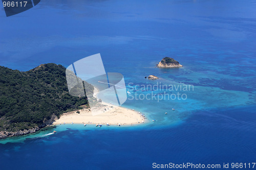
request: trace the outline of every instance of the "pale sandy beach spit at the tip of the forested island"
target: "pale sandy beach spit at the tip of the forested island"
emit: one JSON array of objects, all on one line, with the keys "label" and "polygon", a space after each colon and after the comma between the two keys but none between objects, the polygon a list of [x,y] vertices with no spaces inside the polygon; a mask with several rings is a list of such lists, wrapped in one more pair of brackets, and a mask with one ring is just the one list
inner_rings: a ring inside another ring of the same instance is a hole
[{"label": "pale sandy beach spit at the tip of the forested island", "polygon": [[138,125],[145,123],[145,118],[138,111],[111,104],[104,104],[104,111],[93,115],[89,109],[63,113],[53,125],[60,124],[102,124],[102,125]]}]

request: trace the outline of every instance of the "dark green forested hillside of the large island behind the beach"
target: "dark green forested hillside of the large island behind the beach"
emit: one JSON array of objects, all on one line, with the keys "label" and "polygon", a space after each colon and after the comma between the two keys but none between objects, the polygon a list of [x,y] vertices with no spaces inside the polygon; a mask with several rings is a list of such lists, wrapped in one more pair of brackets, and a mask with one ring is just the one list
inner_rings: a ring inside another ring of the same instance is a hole
[{"label": "dark green forested hillside of the large island behind the beach", "polygon": [[[94,87],[84,83],[87,93]],[[53,63],[19,71],[0,66],[0,132],[17,132],[51,124],[61,113],[88,106],[87,96],[69,94],[66,68]],[[0,136],[1,138],[1,136]]]}]

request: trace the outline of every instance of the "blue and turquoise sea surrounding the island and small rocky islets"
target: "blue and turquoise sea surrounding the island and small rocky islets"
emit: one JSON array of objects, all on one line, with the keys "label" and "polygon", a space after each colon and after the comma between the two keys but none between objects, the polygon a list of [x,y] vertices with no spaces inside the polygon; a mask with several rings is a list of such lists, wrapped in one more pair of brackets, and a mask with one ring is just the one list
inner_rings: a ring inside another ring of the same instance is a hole
[{"label": "blue and turquoise sea surrounding the island and small rocky islets", "polygon": [[[253,0],[56,0],[6,17],[1,7],[0,65],[67,67],[100,53],[105,71],[121,73],[131,91],[123,106],[149,123],[66,124],[3,139],[0,169],[154,169],[153,163],[186,162],[234,169],[231,163],[256,162],[255,9]],[[163,57],[183,67],[156,68]],[[173,85],[193,89],[166,89]],[[135,99],[166,90],[186,99]]]}]

